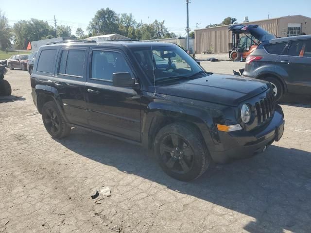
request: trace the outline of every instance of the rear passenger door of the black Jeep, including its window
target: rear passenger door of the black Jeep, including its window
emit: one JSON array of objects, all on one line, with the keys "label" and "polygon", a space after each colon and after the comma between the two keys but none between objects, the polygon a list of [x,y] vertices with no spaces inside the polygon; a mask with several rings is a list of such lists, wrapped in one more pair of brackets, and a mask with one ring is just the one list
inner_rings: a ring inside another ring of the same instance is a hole
[{"label": "rear passenger door of the black Jeep, including its window", "polygon": [[62,100],[69,123],[87,126],[86,60],[88,48],[63,48],[59,51],[53,86]]}]

